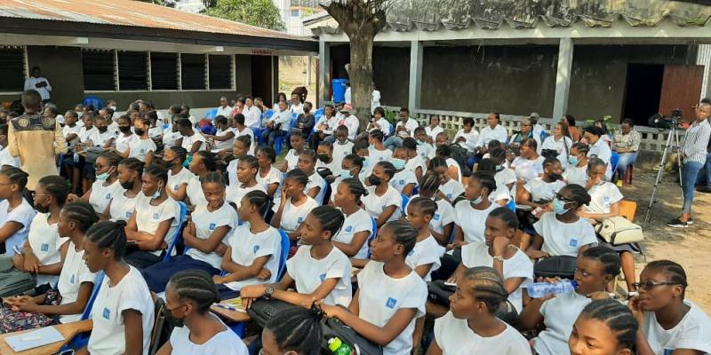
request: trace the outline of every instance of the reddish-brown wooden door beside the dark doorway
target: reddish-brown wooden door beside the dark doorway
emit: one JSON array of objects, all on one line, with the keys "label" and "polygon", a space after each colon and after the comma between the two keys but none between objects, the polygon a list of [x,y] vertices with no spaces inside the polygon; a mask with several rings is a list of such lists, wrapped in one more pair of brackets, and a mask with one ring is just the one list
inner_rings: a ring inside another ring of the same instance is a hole
[{"label": "reddish-brown wooden door beside the dark doorway", "polygon": [[694,120],[694,107],[699,104],[703,79],[704,66],[664,66],[659,112],[669,115],[678,108],[682,110],[685,121]]}]

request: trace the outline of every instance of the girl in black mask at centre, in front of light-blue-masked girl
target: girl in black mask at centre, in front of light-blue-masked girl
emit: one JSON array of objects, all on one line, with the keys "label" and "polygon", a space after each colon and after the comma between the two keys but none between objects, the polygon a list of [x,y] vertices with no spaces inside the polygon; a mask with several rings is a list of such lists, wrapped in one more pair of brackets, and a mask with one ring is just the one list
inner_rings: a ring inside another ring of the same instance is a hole
[{"label": "girl in black mask at centre, in front of light-blue-masked girl", "polygon": [[403,196],[390,185],[394,176],[395,166],[391,162],[378,162],[365,181],[368,193],[361,199],[363,208],[375,218],[378,226],[402,216]]}]

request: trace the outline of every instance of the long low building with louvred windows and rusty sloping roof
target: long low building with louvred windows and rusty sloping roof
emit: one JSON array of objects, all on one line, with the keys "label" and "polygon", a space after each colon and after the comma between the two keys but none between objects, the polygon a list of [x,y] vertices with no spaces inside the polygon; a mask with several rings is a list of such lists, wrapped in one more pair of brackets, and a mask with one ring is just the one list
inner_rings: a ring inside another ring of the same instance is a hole
[{"label": "long low building with louvred windows and rusty sloping roof", "polygon": [[86,96],[158,107],[215,106],[251,93],[270,105],[278,56],[314,55],[315,41],[131,0],[9,0],[0,3],[0,101],[19,99],[41,67],[52,101]]}]

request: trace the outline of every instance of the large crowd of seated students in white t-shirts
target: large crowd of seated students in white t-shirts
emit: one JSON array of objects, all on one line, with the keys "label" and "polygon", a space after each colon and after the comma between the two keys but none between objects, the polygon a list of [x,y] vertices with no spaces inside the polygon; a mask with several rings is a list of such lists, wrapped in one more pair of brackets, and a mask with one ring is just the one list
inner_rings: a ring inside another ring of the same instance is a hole
[{"label": "large crowd of seated students in white t-shirts", "polygon": [[[146,107],[65,114],[75,150],[60,159],[64,177],[43,177],[31,198],[27,173],[0,168],[0,282],[34,280],[0,289],[0,332],[81,319],[98,288],[77,353],[148,353],[163,297],[177,327],[159,354],[246,354],[210,312],[236,296],[244,308],[295,306],[261,331],[268,354],[317,353],[323,317],[388,355],[423,344],[427,354],[711,352],[711,320],[684,298],[683,268],[651,262],[637,282],[639,246],[595,233],[623,199],[604,125],[579,142],[566,117],[545,138],[535,115],[508,135],[492,113],[450,139],[438,117],[419,126],[403,108],[393,124],[376,107],[356,136],[348,107],[316,116],[284,96],[265,124],[220,115],[211,135],[180,106],[168,119]],[[102,151],[89,159],[83,146]],[[534,272],[556,256],[575,258],[574,290],[531,298],[534,282],[558,281]],[[608,292],[620,271],[628,304]],[[422,343],[433,280],[456,289]],[[502,305],[514,323],[498,318]]]}]

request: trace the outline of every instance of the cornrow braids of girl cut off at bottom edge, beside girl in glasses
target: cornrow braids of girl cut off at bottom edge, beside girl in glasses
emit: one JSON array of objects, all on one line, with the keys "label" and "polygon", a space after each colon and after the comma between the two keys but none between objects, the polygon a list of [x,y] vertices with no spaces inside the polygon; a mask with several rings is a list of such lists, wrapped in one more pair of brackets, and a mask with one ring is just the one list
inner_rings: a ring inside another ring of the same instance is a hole
[{"label": "cornrow braids of girl cut off at bottom edge, beside girl in glasses", "polygon": [[579,318],[596,319],[610,327],[618,349],[634,349],[639,323],[626,305],[613,299],[593,301],[580,312]]}]

